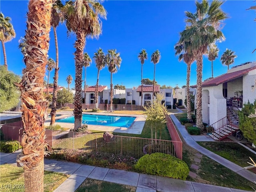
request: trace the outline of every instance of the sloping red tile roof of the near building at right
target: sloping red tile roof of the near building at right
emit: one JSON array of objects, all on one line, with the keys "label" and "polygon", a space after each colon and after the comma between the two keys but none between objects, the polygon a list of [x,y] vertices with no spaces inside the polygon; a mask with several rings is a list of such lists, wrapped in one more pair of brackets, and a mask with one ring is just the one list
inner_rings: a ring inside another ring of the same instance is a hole
[{"label": "sloping red tile roof of the near building at right", "polygon": [[[256,69],[256,66],[231,73],[225,73],[218,77],[205,80],[204,82],[202,82],[202,87],[217,86],[218,84],[229,82],[231,80],[244,76],[244,74],[247,74],[249,71],[252,71],[254,69]],[[191,87],[196,88],[196,85],[193,85]]]}]

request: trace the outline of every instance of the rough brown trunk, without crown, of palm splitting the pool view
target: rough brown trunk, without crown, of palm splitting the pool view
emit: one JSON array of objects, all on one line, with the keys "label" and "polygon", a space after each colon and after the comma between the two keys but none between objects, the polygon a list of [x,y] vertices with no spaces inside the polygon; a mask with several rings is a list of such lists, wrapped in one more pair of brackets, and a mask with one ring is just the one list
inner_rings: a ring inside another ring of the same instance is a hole
[{"label": "rough brown trunk, without crown, of palm splitting the pool view", "polygon": [[82,71],[83,71],[83,51],[85,46],[85,34],[82,30],[76,32],[75,48],[75,97],[74,97],[74,129],[78,129],[82,123]]}]

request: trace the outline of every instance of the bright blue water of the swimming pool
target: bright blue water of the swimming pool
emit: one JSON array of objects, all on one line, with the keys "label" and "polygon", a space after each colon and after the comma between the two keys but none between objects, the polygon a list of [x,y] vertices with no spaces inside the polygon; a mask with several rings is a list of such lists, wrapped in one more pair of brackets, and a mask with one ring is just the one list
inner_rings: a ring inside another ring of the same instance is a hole
[{"label": "bright blue water of the swimming pool", "polygon": [[[114,127],[130,127],[134,122],[135,117],[122,117],[122,116],[107,116],[107,115],[82,115],[82,124],[88,125],[102,125],[102,126],[114,126]],[[56,122],[62,123],[74,123],[74,116],[56,120]]]}]

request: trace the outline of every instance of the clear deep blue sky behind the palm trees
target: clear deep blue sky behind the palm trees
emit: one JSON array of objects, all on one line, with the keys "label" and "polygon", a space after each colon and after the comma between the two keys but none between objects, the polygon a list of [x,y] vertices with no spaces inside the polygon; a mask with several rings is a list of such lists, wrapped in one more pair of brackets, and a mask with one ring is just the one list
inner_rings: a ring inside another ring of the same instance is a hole
[{"label": "clear deep blue sky behind the palm trees", "polygon": [[[140,85],[141,64],[138,53],[146,49],[148,60],[143,65],[143,78],[153,80],[154,64],[150,62],[151,54],[158,49],[161,59],[156,64],[156,81],[160,85],[182,86],[186,84],[186,64],[179,62],[174,55],[174,45],[179,39],[179,32],[185,27],[185,11],[195,12],[195,1],[105,1],[102,3],[107,11],[107,20],[102,19],[102,34],[99,39],[86,39],[84,52],[92,58],[99,47],[106,53],[109,49],[120,52],[122,63],[120,70],[113,75],[113,84],[123,84],[126,88]],[[25,68],[22,54],[18,49],[18,40],[25,35],[26,12],[28,1],[0,0],[0,10],[4,16],[12,18],[16,38],[6,42],[8,70],[22,75]],[[214,61],[214,77],[227,72],[227,66],[222,66],[220,55],[226,48],[233,50],[238,56],[235,64],[239,65],[256,60],[256,18],[254,10],[246,10],[255,5],[253,0],[226,1],[222,9],[228,14],[224,20],[222,32],[226,37],[218,43],[220,49],[218,58]],[[74,42],[75,36],[67,37],[64,24],[57,28],[59,46],[59,80],[60,86],[66,86],[66,77],[73,77],[71,88],[74,87]],[[48,55],[55,60],[55,45],[53,30],[50,32],[50,49]],[[0,64],[4,64],[2,46],[0,47]],[[46,72],[46,75],[48,73]],[[54,70],[50,73],[53,82]],[[211,77],[210,61],[207,56],[203,60],[203,80]],[[87,67],[86,82],[95,85],[97,69],[94,61]],[[84,79],[84,74],[83,74]],[[45,80],[47,78],[45,77]],[[105,67],[100,71],[99,84],[110,87],[110,73]],[[196,64],[192,64],[190,84],[196,84]]]}]

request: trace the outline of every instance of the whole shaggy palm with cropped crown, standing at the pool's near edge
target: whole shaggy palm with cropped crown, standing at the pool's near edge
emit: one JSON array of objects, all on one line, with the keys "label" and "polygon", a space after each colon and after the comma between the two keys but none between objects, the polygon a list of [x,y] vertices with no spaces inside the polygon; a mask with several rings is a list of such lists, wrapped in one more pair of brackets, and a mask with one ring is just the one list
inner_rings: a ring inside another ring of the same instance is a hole
[{"label": "whole shaggy palm with cropped crown, standing at the pool's near edge", "polygon": [[98,37],[101,34],[99,15],[106,18],[104,7],[94,0],[70,0],[64,6],[64,18],[69,32],[76,35],[75,48],[75,97],[74,129],[82,124],[82,62],[86,36]]}]

